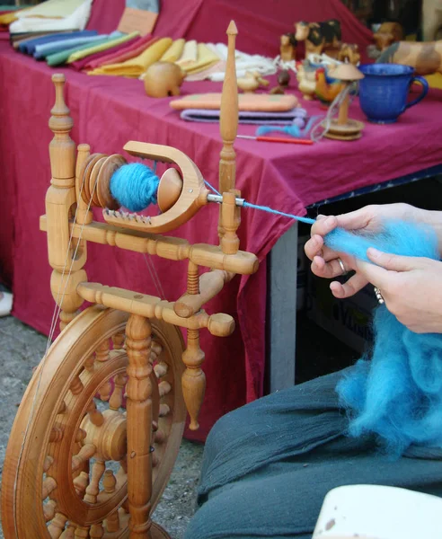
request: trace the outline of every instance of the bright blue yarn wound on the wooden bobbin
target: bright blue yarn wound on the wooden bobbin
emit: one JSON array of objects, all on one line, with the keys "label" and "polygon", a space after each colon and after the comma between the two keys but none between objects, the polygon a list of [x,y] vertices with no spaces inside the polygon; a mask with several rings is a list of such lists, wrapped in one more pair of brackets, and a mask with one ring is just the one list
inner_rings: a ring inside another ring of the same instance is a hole
[{"label": "bright blue yarn wound on the wooden bobbin", "polygon": [[149,167],[141,163],[124,164],[110,178],[110,192],[129,211],[141,211],[156,204],[160,180]]}]

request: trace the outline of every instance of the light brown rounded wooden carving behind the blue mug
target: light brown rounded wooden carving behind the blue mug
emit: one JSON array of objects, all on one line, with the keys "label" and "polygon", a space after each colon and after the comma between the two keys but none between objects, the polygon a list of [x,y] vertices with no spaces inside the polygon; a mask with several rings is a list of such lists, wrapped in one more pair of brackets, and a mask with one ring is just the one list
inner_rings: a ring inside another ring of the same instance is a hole
[{"label": "light brown rounded wooden carving behind the blue mug", "polygon": [[385,49],[376,63],[411,66],[416,75],[442,73],[442,40],[423,43],[398,41]]}]

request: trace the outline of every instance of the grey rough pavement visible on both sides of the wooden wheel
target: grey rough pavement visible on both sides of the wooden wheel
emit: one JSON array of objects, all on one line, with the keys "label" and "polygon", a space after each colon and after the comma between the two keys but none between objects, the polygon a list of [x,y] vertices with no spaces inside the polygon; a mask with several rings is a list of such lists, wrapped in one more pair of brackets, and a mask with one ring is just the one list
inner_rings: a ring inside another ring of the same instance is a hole
[{"label": "grey rough pavement visible on both sides of the wooden wheel", "polygon": [[[46,338],[37,331],[11,316],[0,318],[0,473],[13,418],[45,347]],[[193,513],[201,456],[201,445],[183,440],[171,481],[156,508],[155,521],[173,539],[183,537]],[[4,539],[1,530],[0,539]]]}]

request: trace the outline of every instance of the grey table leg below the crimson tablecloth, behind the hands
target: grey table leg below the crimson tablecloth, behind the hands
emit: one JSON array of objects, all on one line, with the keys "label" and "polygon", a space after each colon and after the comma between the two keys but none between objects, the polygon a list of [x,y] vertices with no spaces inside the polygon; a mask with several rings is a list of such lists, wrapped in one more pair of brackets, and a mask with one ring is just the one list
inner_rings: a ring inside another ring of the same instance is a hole
[{"label": "grey table leg below the crimson tablecloth, behind the hands", "polygon": [[268,295],[268,387],[270,393],[295,384],[297,223],[270,252]]}]

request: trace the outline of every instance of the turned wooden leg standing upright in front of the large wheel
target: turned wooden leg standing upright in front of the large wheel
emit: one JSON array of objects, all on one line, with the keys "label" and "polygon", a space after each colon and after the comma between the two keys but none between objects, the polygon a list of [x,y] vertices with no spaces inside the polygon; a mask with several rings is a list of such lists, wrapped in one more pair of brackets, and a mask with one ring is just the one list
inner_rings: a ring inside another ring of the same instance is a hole
[{"label": "turned wooden leg standing upright in front of the large wheel", "polygon": [[133,314],[126,326],[128,349],[128,507],[130,539],[153,539],[152,496],[152,384],[151,325]]}]

